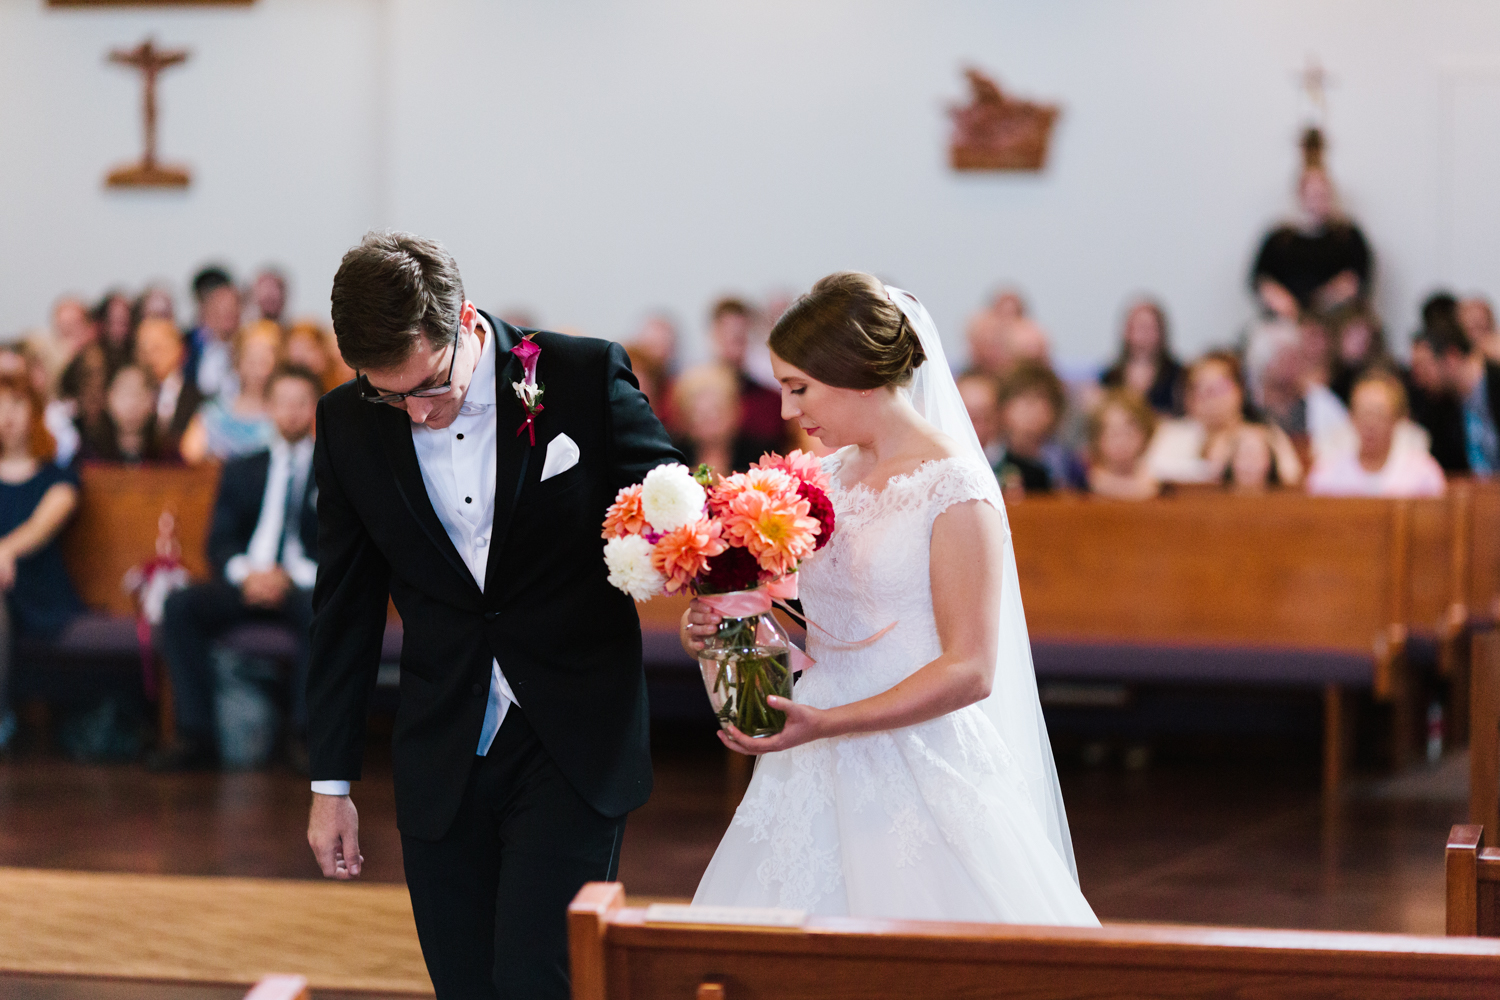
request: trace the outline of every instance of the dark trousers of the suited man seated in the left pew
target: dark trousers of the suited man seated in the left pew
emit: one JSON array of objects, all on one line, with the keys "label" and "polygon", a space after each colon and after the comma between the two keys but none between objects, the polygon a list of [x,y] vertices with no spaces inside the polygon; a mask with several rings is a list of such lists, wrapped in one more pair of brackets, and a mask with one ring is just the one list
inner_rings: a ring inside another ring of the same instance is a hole
[{"label": "dark trousers of the suited man seated in the left pew", "polygon": [[250,607],[240,588],[224,580],[198,583],[166,598],[158,639],[172,675],[172,711],[177,730],[198,741],[213,741],[213,643],[236,625],[252,621],[285,622],[297,634],[297,658],[286,679],[291,730],[308,732],[308,646],[312,628],[312,591],[292,588],[279,609]]}]

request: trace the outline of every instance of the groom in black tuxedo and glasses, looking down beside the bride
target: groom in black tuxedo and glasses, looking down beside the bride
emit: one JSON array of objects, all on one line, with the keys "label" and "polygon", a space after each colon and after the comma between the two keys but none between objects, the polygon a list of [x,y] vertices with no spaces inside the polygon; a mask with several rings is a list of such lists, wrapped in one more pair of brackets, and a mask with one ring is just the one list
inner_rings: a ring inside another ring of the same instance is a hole
[{"label": "groom in black tuxedo and glasses, looking down beside the bride", "polygon": [[618,345],[477,310],[432,240],[366,235],[333,328],[358,376],[318,405],[308,841],[326,876],[360,874],[348,783],[388,594],[396,822],[438,999],[567,997],[567,904],[614,879],[651,792],[640,624],[600,523],[681,459]]}]

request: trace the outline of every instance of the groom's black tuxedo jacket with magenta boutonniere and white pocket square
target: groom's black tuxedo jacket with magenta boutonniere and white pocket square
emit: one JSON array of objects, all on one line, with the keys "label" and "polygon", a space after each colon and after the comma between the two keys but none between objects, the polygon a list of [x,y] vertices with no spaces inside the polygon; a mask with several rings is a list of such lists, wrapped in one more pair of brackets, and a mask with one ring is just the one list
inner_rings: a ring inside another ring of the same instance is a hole
[{"label": "groom's black tuxedo jacket with magenta boutonniere and white pocket square", "polygon": [[[314,780],[360,777],[364,714],[380,663],[386,595],[405,627],[392,736],[396,822],[436,840],[448,829],[478,745],[498,660],[573,787],[604,816],[651,793],[640,622],[606,579],[600,525],[615,493],[680,462],[640,394],[624,349],[537,333],[544,411],[537,442],[512,382],[520,331],[495,330],[495,526],[482,592],[422,483],[411,423],[363,402],[354,382],[318,403],[318,586],[308,678]],[[552,439],[580,457],[542,483]]]}]

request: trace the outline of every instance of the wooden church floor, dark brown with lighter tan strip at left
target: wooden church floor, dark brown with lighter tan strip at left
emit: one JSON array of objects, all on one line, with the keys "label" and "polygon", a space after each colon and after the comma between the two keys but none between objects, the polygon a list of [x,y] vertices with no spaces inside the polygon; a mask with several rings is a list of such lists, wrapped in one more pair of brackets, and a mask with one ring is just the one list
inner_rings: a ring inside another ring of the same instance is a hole
[{"label": "wooden church floor, dark brown with lighter tan strip at left", "polygon": [[[621,880],[633,897],[682,898],[692,895],[712,855],[742,777],[726,769],[722,748],[700,730],[664,738],[656,763],[656,793],[627,826]],[[336,910],[348,904],[364,915],[381,915],[384,937],[374,949],[376,954],[342,961],[370,949],[346,943],[322,949],[320,934],[326,936],[326,925],[290,921],[276,924],[276,934],[261,943],[274,954],[280,946],[276,942],[285,942],[285,954],[298,961],[327,960],[332,964],[320,969],[328,988],[374,996],[384,984],[386,993],[405,993],[412,978],[420,976],[420,963],[410,909],[399,888],[400,844],[390,768],[378,744],[372,744],[366,771],[366,781],[356,787],[356,802],[366,883],[375,885],[330,886],[316,877],[304,840],[306,783],[290,772],[158,777],[138,766],[75,765],[36,750],[0,763],[0,865],[306,880],[290,886],[294,895],[308,894],[297,897],[298,907],[327,912],[318,907]],[[1083,889],[1106,921],[1443,933],[1443,843],[1448,828],[1466,816],[1467,775],[1461,757],[1396,778],[1356,781],[1335,808],[1320,804],[1312,762],[1296,756],[1257,760],[1230,754],[1197,760],[1176,754],[1131,771],[1118,756],[1084,766],[1065,753],[1060,771]],[[214,921],[228,915],[232,924],[256,912],[255,907],[273,907],[278,894],[288,889],[273,886],[276,892],[267,895],[264,883],[232,879],[213,883],[216,889],[208,898],[219,900],[218,904],[188,915],[189,922],[201,918],[196,927],[212,940],[219,940],[226,927],[219,924],[220,934],[214,937]],[[92,900],[135,900],[136,912],[154,913],[152,919],[158,919],[171,909],[171,885],[172,880],[153,880],[132,889],[129,879],[117,877],[90,883],[57,873],[8,874],[0,879],[0,970],[40,967],[34,954],[20,960],[15,952],[26,949],[6,948],[8,940],[16,940],[16,928],[38,928],[36,900],[62,901],[58,907],[72,915],[68,919],[76,928],[63,939],[87,955],[111,940],[108,933],[84,931]],[[68,886],[72,889],[58,889]],[[140,927],[132,924],[130,913],[126,904],[106,907],[105,924],[114,933]],[[164,963],[190,958],[200,949],[189,937],[162,945],[158,958]],[[207,949],[204,945],[202,951]],[[213,961],[234,966],[234,949],[228,952]],[[57,955],[48,958],[54,960]],[[76,955],[69,961],[76,961]],[[369,963],[384,967],[375,978],[362,978]],[[244,973],[243,964],[236,967]],[[183,978],[160,969],[132,972]],[[171,987],[177,993],[130,993],[132,988],[0,975],[3,997],[218,1000],[231,996],[182,982]]]}]

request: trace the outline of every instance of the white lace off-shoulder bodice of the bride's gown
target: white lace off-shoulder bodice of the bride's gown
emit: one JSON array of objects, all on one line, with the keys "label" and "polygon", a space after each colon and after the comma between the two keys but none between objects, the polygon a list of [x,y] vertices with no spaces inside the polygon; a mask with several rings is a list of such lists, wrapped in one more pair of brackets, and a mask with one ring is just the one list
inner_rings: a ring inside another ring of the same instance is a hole
[{"label": "white lace off-shoulder bodice of the bride's gown", "polygon": [[[972,462],[926,462],[878,493],[858,483],[843,486],[838,474],[849,454],[846,448],[824,459],[834,537],[800,573],[802,607],[826,631],[808,628],[807,652],[818,667],[798,682],[796,700],[818,708],[885,691],[938,658],[933,522],[972,499],[1005,510],[994,475]],[[861,645],[891,622],[896,628],[888,634]]]}]

